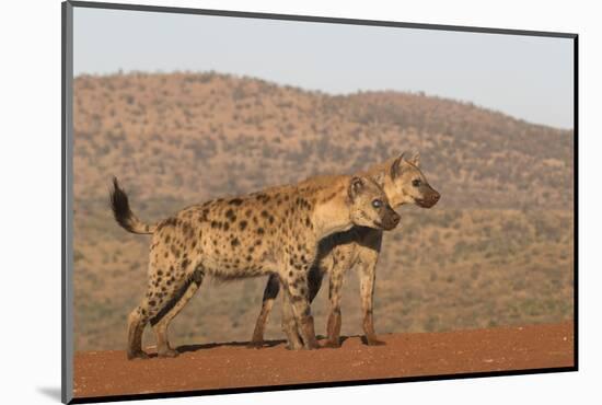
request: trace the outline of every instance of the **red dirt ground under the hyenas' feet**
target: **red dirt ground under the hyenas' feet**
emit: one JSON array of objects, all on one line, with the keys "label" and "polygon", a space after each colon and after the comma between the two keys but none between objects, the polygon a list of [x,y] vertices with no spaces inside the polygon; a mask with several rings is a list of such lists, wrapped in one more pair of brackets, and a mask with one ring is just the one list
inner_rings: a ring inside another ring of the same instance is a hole
[{"label": "red dirt ground under the hyenas' feet", "polygon": [[[74,396],[127,395],[308,382],[574,366],[574,324],[359,337],[339,349],[290,351],[282,342],[183,346],[175,359],[126,360],[124,351],[78,352]],[[152,351],[152,350],[150,350]]]}]

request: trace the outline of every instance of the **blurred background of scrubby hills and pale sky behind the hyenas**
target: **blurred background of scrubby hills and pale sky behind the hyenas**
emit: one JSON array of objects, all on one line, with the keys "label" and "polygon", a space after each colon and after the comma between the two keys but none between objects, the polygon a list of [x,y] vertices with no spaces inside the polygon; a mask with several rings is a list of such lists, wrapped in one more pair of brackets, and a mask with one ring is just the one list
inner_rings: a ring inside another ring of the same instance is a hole
[{"label": "blurred background of scrubby hills and pale sky behind the hyenas", "polygon": [[[385,234],[378,333],[572,317],[569,39],[77,8],[74,71],[77,350],[123,348],[146,291],[150,238],[113,220],[113,175],[154,222],[403,151],[442,198]],[[265,281],[207,280],[172,342],[246,342]],[[323,288],[317,334],[327,309]],[[343,334],[360,312],[350,270]]]}]

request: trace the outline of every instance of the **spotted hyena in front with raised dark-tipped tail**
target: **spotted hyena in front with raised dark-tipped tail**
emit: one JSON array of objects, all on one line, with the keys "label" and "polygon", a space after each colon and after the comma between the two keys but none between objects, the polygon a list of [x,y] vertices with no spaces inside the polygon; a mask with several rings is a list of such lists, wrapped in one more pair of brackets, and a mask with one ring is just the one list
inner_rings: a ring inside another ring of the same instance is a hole
[{"label": "spotted hyena in front with raised dark-tipped tail", "polygon": [[129,315],[127,356],[144,358],[142,332],[153,326],[159,356],[174,357],[167,326],[206,275],[236,279],[277,274],[305,348],[315,348],[308,271],[321,239],[354,224],[390,230],[400,216],[368,177],[322,176],[236,198],[185,208],[142,223],[114,180],[112,208],[132,233],[152,234],[144,299]]}]

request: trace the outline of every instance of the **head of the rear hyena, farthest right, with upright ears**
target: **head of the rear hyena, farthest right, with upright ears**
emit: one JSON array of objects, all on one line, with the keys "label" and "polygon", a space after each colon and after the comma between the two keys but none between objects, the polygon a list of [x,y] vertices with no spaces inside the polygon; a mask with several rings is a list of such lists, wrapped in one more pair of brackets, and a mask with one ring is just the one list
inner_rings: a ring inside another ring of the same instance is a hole
[{"label": "head of the rear hyena, farthest right, with upright ears", "polygon": [[422,208],[430,208],[439,201],[441,195],[430,186],[427,177],[418,169],[419,165],[420,155],[418,153],[409,160],[406,160],[404,153],[402,153],[391,164],[389,175],[395,185],[395,192],[400,196],[395,200],[400,200],[401,204],[409,202]]}]

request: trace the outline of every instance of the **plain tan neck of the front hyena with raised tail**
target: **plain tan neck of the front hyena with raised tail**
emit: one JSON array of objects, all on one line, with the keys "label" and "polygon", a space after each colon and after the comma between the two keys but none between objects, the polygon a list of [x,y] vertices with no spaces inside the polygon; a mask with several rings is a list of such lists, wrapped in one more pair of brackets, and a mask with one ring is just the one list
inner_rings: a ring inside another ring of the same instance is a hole
[{"label": "plain tan neck of the front hyena with raised tail", "polygon": [[321,200],[313,211],[313,228],[316,238],[323,239],[336,232],[344,232],[351,229],[349,206],[347,202],[347,189],[338,189],[328,195],[328,198]]}]

